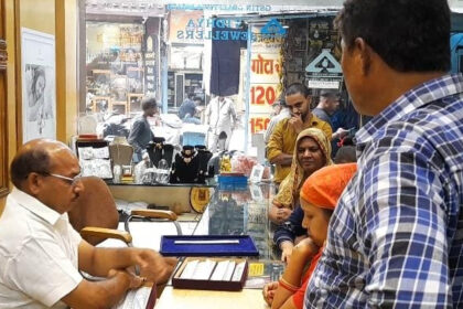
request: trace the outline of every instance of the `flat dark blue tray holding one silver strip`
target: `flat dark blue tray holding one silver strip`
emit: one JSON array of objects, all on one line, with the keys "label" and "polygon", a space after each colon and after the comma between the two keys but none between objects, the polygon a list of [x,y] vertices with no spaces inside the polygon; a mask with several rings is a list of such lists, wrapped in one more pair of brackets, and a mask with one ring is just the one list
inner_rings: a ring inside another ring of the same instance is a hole
[{"label": "flat dark blue tray holding one silver strip", "polygon": [[[239,241],[239,244],[176,244],[175,241]],[[259,256],[259,251],[249,235],[182,235],[162,236],[164,256]]]}]

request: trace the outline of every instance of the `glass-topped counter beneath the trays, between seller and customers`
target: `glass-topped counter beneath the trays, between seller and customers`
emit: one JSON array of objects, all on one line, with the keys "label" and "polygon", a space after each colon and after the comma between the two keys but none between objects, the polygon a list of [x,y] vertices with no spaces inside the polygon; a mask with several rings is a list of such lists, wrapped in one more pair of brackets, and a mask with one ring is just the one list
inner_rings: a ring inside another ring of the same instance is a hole
[{"label": "glass-topped counter beneath the trays, between seller and customers", "polygon": [[[283,271],[281,253],[272,241],[268,209],[273,184],[248,184],[245,189],[216,188],[193,235],[250,235],[259,251],[247,257],[248,278],[241,291],[175,289],[168,284],[155,308],[268,308],[262,298],[265,284],[278,280]],[[182,260],[182,258],[181,258]]]}]

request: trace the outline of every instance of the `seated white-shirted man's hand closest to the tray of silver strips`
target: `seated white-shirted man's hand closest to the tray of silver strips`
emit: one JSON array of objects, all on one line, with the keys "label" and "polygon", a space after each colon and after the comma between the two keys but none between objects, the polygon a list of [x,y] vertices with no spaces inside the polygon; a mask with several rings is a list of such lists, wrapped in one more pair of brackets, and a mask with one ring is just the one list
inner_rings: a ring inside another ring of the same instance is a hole
[{"label": "seated white-shirted man's hand closest to the tray of silver strips", "polygon": [[157,284],[166,283],[176,265],[176,258],[163,257],[151,249],[138,251],[134,262],[140,267],[140,275]]}]

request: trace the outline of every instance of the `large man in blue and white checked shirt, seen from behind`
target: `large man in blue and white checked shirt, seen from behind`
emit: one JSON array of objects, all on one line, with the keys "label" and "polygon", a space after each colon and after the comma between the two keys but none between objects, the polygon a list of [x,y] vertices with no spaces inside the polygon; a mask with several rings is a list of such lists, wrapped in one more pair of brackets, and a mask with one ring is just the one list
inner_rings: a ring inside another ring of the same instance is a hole
[{"label": "large man in blue and white checked shirt, seen from behind", "polygon": [[446,0],[347,0],[336,19],[358,172],[305,308],[463,308],[463,76]]}]

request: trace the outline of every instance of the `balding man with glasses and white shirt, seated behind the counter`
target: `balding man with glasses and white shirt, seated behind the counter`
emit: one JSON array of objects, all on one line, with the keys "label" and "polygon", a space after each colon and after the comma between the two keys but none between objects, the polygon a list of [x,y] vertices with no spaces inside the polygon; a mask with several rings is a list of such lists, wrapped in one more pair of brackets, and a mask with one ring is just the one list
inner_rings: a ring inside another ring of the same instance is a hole
[{"label": "balding man with glasses and white shirt, seated behind the counter", "polygon": [[[23,145],[10,171],[14,188],[0,217],[0,308],[109,308],[146,279],[169,279],[174,259],[150,249],[96,248],[73,230],[67,211],[85,189],[64,143]],[[78,270],[106,279],[88,281]]]}]

